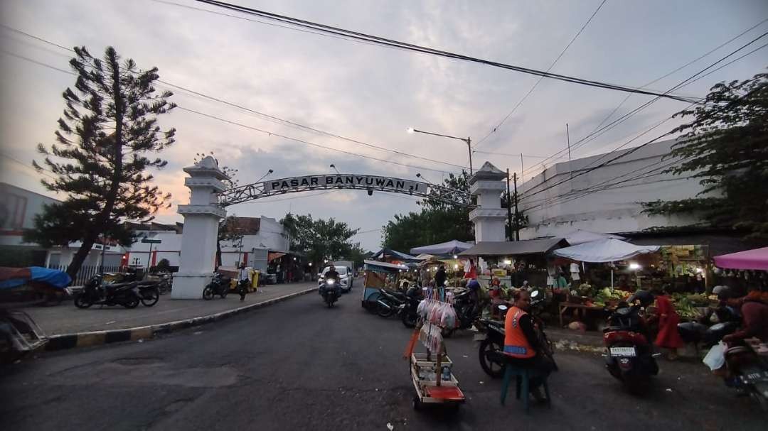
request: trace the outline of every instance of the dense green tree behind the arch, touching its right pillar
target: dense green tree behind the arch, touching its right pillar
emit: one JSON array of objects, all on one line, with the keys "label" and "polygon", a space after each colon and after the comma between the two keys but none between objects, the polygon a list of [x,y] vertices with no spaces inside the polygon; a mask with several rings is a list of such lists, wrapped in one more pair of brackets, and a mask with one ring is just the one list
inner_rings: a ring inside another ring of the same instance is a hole
[{"label": "dense green tree behind the arch, touching its right pillar", "polygon": [[[469,192],[469,176],[465,171],[459,176],[450,174],[443,180],[443,186]],[[423,199],[419,206],[421,211],[397,214],[394,220],[382,226],[382,246],[407,253],[419,245],[475,238],[475,226],[469,221],[469,207],[434,198]]]}]

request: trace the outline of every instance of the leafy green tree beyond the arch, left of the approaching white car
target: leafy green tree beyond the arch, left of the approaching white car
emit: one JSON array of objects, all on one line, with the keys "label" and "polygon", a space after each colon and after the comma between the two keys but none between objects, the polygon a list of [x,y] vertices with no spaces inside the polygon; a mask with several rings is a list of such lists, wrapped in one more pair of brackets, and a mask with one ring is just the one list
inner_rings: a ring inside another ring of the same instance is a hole
[{"label": "leafy green tree beyond the arch, left of the approaching white car", "polygon": [[349,240],[359,229],[350,229],[345,222],[335,219],[313,219],[312,216],[294,216],[290,212],[280,220],[288,236],[290,249],[306,254],[310,262],[320,264],[325,259],[342,260],[353,255],[359,244]]}]

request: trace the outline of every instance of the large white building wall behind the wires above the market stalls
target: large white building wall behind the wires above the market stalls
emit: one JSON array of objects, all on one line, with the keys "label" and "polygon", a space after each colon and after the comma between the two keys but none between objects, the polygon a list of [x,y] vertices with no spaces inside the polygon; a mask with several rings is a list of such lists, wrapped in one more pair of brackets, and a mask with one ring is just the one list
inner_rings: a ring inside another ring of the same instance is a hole
[{"label": "large white building wall behind the wires above the market stalls", "polygon": [[[574,229],[592,232],[640,232],[651,227],[690,225],[690,217],[647,216],[641,202],[656,199],[685,199],[702,190],[697,179],[661,173],[674,160],[663,160],[674,140],[650,144],[607,166],[576,176],[621,152],[557,163],[518,187],[520,209],[528,216],[528,228],[520,239],[564,235]],[[624,150],[626,151],[626,150]],[[598,160],[600,159],[600,160]],[[663,169],[664,168],[664,169]],[[551,187],[571,176],[574,179]],[[624,183],[616,184],[620,181]],[[597,192],[580,196],[579,190],[598,187]],[[609,187],[607,189],[602,189]],[[526,194],[539,192],[535,196]]]}]

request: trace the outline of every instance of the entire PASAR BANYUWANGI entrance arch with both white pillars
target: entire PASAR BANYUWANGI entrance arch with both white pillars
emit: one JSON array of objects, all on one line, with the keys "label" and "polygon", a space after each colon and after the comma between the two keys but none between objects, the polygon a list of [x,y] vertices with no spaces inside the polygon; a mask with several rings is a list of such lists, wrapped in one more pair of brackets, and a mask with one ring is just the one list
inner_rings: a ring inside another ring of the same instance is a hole
[{"label": "entire PASAR BANYUWANGI entrance arch with both white pillars", "polygon": [[[184,216],[179,271],[174,275],[171,297],[200,299],[214,271],[214,257],[220,219],[227,216],[227,206],[287,193],[313,190],[353,189],[391,192],[436,199],[450,205],[474,206],[469,219],[475,224],[475,241],[504,241],[507,212],[501,208],[501,194],[506,174],[485,162],[470,177],[469,192],[432,183],[389,176],[365,174],[321,174],[270,179],[230,189],[224,184],[227,174],[214,157],[207,156],[184,168],[189,176],[184,186],[190,189],[190,203],[178,206]],[[472,205],[475,196],[476,205]]]}]

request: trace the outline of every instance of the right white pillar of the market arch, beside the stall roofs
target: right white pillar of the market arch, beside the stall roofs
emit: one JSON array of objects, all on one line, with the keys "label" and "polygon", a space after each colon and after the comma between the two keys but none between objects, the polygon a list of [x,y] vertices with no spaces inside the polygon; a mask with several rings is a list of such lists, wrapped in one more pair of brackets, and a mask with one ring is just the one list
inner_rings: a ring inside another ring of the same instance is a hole
[{"label": "right white pillar of the market arch, beside the stall roofs", "polygon": [[477,196],[477,208],[469,212],[469,220],[475,223],[475,244],[481,241],[505,241],[507,210],[502,209],[502,192],[507,174],[485,162],[482,168],[469,178],[469,192]]}]

